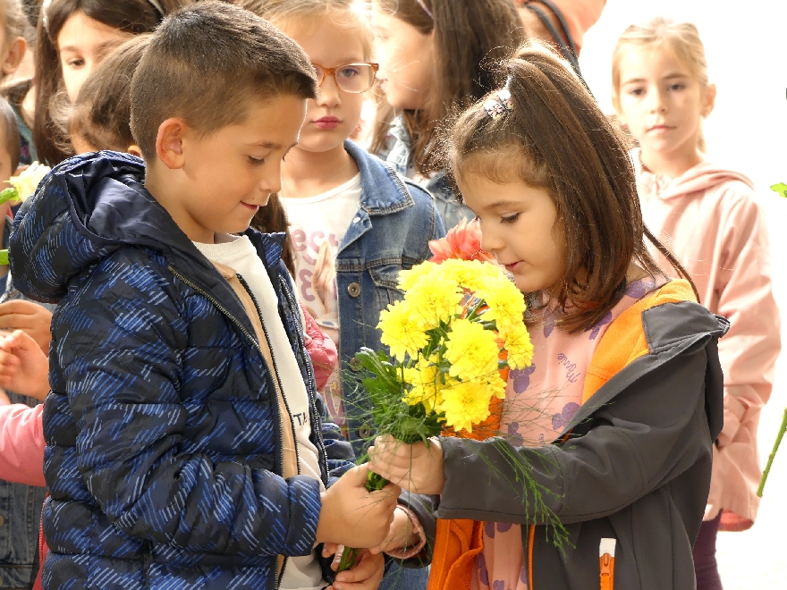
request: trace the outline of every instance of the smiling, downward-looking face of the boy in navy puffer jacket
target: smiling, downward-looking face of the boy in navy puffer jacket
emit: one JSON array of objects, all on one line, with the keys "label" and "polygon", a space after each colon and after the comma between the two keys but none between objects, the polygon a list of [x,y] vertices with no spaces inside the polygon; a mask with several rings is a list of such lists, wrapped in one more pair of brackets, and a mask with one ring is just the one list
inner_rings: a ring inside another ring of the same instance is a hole
[{"label": "smiling, downward-looking face of the boy in navy puffer jacket", "polygon": [[216,233],[249,228],[281,189],[282,159],[305,114],[306,100],[283,95],[252,101],[244,122],[207,137],[184,131],[178,190],[163,205],[190,240],[213,243]]}]

